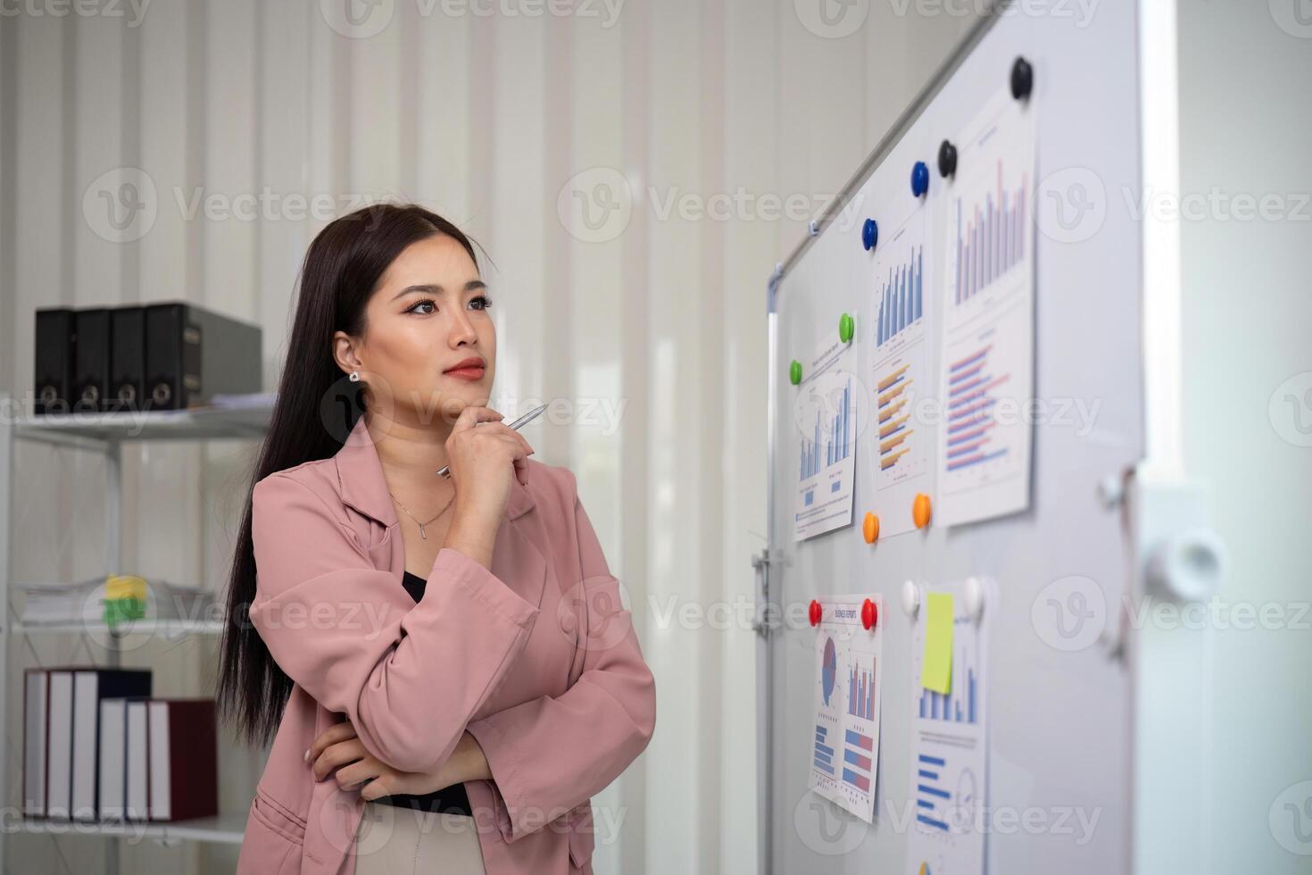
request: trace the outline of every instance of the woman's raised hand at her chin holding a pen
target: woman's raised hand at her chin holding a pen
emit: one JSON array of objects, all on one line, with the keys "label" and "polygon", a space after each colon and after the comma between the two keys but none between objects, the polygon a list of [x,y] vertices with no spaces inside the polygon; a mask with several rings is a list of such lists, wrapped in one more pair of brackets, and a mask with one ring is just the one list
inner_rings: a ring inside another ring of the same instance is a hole
[{"label": "woman's raised hand at her chin holding a pen", "polygon": [[499,420],[491,407],[466,407],[446,438],[446,464],[455,483],[455,513],[445,547],[491,568],[492,546],[510,500],[510,478],[525,481],[533,446]]}]

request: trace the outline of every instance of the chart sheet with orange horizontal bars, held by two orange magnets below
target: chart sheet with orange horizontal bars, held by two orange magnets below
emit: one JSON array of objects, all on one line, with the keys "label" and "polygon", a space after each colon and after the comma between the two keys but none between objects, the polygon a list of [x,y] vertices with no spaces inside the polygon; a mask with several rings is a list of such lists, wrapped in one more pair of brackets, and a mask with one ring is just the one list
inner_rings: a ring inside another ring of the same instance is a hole
[{"label": "chart sheet with orange horizontal bars, held by two orange magnets below", "polygon": [[928,209],[917,206],[887,241],[875,247],[872,430],[863,451],[875,480],[880,538],[913,531],[911,506],[929,492],[934,441],[918,404],[933,396],[926,325],[934,295],[928,286]]}]

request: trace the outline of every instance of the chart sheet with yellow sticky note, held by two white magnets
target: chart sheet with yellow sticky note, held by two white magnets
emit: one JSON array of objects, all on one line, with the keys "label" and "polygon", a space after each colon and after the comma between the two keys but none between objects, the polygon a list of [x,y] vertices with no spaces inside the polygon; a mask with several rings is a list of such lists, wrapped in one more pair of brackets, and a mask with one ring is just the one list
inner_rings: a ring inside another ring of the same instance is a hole
[{"label": "chart sheet with yellow sticky note, held by two white magnets", "polygon": [[[925,611],[912,628],[912,672],[920,694],[912,706],[911,792],[913,828],[907,841],[907,874],[921,866],[945,875],[983,872],[988,749],[987,619],[964,613],[959,582],[934,588],[953,593],[951,681],[946,694],[920,687]],[[985,584],[985,603],[997,597]],[[996,602],[992,602],[996,603]],[[987,611],[985,611],[987,618]]]}]

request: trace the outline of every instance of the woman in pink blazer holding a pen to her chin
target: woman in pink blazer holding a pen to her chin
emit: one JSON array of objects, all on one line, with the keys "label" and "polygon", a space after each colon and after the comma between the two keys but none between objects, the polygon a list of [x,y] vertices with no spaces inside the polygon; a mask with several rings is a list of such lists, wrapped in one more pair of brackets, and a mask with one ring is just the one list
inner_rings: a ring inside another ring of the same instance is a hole
[{"label": "woman in pink blazer holding a pen to her chin", "polygon": [[589,798],[651,739],[575,476],[485,407],[491,304],[417,206],[306,254],[223,636],[220,710],[273,736],[239,875],[589,872]]}]

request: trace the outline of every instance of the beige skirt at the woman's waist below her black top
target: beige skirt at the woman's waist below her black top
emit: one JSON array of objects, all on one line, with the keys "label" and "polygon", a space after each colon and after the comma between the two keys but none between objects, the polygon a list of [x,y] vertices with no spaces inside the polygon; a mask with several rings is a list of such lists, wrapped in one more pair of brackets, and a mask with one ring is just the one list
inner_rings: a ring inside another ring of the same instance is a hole
[{"label": "beige skirt at the woman's waist below her black top", "polygon": [[365,802],[356,875],[485,875],[474,819]]}]

